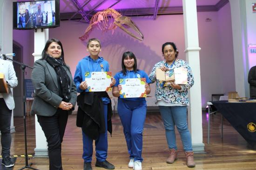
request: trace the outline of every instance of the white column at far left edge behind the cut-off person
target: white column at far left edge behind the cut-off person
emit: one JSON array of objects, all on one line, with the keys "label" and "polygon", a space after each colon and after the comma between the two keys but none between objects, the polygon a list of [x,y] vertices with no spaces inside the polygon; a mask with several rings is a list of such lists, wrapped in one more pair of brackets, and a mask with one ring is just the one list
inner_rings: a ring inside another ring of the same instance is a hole
[{"label": "white column at far left edge behind the cut-off person", "polygon": [[[1,54],[13,53],[13,1],[0,0],[0,47]],[[12,57],[10,57],[12,58]],[[13,126],[13,111],[11,119],[11,132]]]}]

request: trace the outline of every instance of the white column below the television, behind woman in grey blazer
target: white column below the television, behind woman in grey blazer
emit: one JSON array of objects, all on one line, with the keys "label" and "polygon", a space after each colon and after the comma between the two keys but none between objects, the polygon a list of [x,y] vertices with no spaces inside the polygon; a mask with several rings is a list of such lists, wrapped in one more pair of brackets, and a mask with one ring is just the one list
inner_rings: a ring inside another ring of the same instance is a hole
[{"label": "white column below the television, behind woman in grey blazer", "polygon": [[[40,59],[42,50],[44,49],[45,43],[48,40],[48,29],[37,29],[37,32],[34,33],[34,61]],[[40,124],[37,121],[37,116],[35,115],[35,148],[34,156],[35,157],[47,157],[47,141],[42,131]]]}]

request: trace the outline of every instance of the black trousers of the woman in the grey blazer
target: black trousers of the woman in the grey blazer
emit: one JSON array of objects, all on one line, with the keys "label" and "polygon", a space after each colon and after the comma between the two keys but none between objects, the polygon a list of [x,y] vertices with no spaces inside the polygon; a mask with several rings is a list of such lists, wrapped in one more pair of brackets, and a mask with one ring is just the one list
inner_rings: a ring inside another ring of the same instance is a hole
[{"label": "black trousers of the woman in the grey blazer", "polygon": [[62,170],[61,143],[67,125],[68,113],[58,109],[53,116],[37,115],[48,142],[49,170]]}]

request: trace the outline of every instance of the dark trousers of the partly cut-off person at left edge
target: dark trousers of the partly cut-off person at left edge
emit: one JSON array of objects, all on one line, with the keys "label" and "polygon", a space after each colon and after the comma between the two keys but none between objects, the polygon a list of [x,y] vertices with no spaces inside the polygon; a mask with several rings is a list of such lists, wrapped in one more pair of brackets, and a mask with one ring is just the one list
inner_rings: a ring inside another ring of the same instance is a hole
[{"label": "dark trousers of the partly cut-off person at left edge", "polygon": [[12,142],[11,136],[11,119],[12,110],[7,107],[4,98],[0,98],[0,132],[1,132],[1,145],[2,157],[10,156],[10,148]]}]

